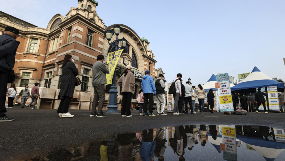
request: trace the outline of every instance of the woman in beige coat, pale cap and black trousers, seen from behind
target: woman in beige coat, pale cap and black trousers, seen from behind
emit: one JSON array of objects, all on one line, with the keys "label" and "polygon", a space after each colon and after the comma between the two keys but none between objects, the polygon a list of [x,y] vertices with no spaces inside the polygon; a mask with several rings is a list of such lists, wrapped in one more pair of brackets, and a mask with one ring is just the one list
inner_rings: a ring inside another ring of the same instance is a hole
[{"label": "woman in beige coat, pale cap and black trousers, seen from behind", "polygon": [[[118,80],[119,86],[122,87],[122,117],[132,117],[131,115],[131,98],[135,92],[135,76],[131,72],[132,66],[127,65],[127,68],[124,71],[124,75]],[[127,112],[127,114],[126,114]]]}]

